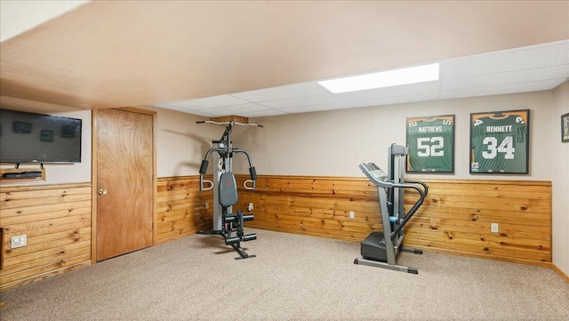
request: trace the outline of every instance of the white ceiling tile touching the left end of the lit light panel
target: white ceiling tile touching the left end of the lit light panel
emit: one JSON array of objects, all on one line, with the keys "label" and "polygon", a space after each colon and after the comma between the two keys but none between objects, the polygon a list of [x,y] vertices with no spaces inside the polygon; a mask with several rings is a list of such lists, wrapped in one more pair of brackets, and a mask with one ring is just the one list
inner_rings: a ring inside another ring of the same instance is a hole
[{"label": "white ceiling tile touching the left end of the lit light panel", "polygon": [[330,93],[316,82],[287,84],[284,86],[260,89],[251,92],[232,93],[232,96],[254,102],[286,100],[299,97],[317,96]]}]

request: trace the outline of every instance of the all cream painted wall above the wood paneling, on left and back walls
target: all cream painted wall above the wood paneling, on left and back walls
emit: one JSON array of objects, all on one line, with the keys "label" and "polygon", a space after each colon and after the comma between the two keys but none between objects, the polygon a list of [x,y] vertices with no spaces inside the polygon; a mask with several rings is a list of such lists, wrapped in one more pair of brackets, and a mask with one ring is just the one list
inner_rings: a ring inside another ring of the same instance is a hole
[{"label": "all cream painted wall above the wood paneling, on left and back walls", "polygon": [[[459,100],[437,100],[397,106],[354,108],[319,113],[251,119],[264,128],[239,127],[233,131],[235,147],[252,156],[259,174],[310,176],[363,176],[357,165],[387,165],[391,143],[405,143],[407,116],[456,115],[454,174],[433,178],[488,178],[551,180],[551,105],[553,94],[530,92]],[[223,126],[196,124],[204,117],[164,108],[157,111],[157,176],[196,175],[212,140]],[[531,109],[530,174],[469,174],[469,114],[509,109]],[[91,181],[91,111],[54,112],[84,119],[83,161],[76,165],[47,165],[48,183]],[[546,155],[546,156],[544,156]],[[236,157],[236,173],[248,173],[246,160]],[[10,165],[3,165],[3,167]],[[211,166],[210,166],[211,167]],[[211,168],[210,168],[211,171]],[[427,174],[423,174],[427,175]]]}]

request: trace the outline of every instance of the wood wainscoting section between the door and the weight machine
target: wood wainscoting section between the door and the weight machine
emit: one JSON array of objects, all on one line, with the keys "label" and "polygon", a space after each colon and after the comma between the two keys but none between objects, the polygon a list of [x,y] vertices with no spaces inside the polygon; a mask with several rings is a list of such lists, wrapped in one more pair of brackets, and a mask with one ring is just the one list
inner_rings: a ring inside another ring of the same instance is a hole
[{"label": "wood wainscoting section between the door and the weight machine", "polygon": [[159,178],[155,244],[212,229],[212,199],[212,190],[199,191],[199,176]]}]

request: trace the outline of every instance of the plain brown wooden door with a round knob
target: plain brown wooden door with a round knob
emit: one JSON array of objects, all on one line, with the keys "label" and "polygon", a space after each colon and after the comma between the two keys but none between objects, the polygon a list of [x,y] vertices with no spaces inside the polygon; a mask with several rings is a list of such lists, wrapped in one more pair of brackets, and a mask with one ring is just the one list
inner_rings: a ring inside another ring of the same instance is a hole
[{"label": "plain brown wooden door with a round knob", "polygon": [[154,119],[97,110],[96,261],[153,244]]}]

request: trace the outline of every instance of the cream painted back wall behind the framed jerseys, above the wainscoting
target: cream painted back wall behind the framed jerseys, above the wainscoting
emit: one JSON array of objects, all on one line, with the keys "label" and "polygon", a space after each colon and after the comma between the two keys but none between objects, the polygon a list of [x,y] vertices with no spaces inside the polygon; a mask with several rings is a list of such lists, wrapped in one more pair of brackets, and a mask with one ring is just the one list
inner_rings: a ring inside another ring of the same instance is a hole
[{"label": "cream painted back wall behind the framed jerseys, above the wainscoting", "polygon": [[[420,176],[549,181],[551,103],[548,91],[260,117],[253,121],[264,128],[235,141],[251,152],[259,174],[364,176],[360,163],[387,167],[389,145],[405,144],[407,116],[453,114],[454,174]],[[531,109],[529,175],[469,174],[470,113],[514,109]]]}]

